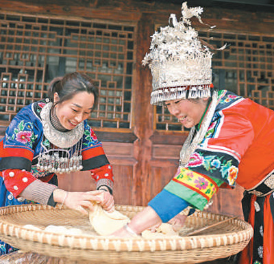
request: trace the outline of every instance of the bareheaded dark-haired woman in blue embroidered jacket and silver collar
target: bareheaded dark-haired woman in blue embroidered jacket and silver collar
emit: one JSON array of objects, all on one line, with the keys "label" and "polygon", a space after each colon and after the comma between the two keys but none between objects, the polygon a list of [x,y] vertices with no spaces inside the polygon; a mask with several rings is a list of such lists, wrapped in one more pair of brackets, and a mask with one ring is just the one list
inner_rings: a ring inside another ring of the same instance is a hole
[{"label": "bareheaded dark-haired woman in blue embroidered jacket and silver collar", "polygon": [[[73,72],[51,81],[49,98],[18,112],[0,141],[1,207],[59,202],[87,213],[97,201],[112,209],[112,166],[87,122],[98,94],[88,75]],[[83,170],[91,172],[97,190],[66,192],[51,184],[56,175]],[[12,250],[0,242],[1,254]]]}]

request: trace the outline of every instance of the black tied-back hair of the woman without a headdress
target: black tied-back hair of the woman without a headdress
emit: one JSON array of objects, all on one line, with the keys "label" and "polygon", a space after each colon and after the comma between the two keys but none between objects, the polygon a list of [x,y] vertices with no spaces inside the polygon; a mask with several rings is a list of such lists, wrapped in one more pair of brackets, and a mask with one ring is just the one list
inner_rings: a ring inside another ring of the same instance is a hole
[{"label": "black tied-back hair of the woman without a headdress", "polygon": [[97,105],[99,96],[99,90],[93,85],[92,79],[82,72],[72,72],[64,75],[64,77],[55,77],[51,83],[49,83],[47,92],[51,102],[53,102],[55,92],[57,92],[60,99],[55,105],[70,100],[79,92],[93,94],[95,101],[92,106],[92,111]]}]

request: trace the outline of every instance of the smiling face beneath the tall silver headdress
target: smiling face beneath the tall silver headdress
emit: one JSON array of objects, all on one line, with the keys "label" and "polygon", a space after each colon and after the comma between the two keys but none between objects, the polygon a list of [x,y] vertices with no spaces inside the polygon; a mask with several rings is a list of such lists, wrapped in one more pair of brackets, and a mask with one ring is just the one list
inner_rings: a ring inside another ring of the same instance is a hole
[{"label": "smiling face beneath the tall silver headdress", "polygon": [[164,102],[169,112],[178,118],[184,127],[190,129],[199,124],[208,105],[208,98],[197,100],[176,99]]}]

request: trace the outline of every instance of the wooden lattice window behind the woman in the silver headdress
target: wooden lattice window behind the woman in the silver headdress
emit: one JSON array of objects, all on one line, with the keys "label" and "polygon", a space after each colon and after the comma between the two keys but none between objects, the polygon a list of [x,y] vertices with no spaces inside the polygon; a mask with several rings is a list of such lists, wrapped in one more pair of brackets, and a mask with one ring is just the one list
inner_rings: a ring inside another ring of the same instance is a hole
[{"label": "wooden lattice window behind the woman in the silver headdress", "polygon": [[[232,34],[200,31],[199,36],[214,47],[229,47],[216,51],[212,58],[214,86],[274,109],[274,35]],[[184,129],[163,107],[155,107],[154,127],[158,130]]]}]

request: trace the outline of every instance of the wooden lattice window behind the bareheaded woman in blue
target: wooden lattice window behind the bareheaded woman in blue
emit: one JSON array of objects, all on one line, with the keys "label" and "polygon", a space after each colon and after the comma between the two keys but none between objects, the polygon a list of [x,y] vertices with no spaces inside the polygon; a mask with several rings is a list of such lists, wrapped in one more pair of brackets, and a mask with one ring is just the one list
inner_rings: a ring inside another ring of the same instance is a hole
[{"label": "wooden lattice window behind the bareheaded woman in blue", "polygon": [[47,96],[47,85],[85,72],[99,87],[92,127],[131,129],[135,25],[0,14],[0,122]]}]

